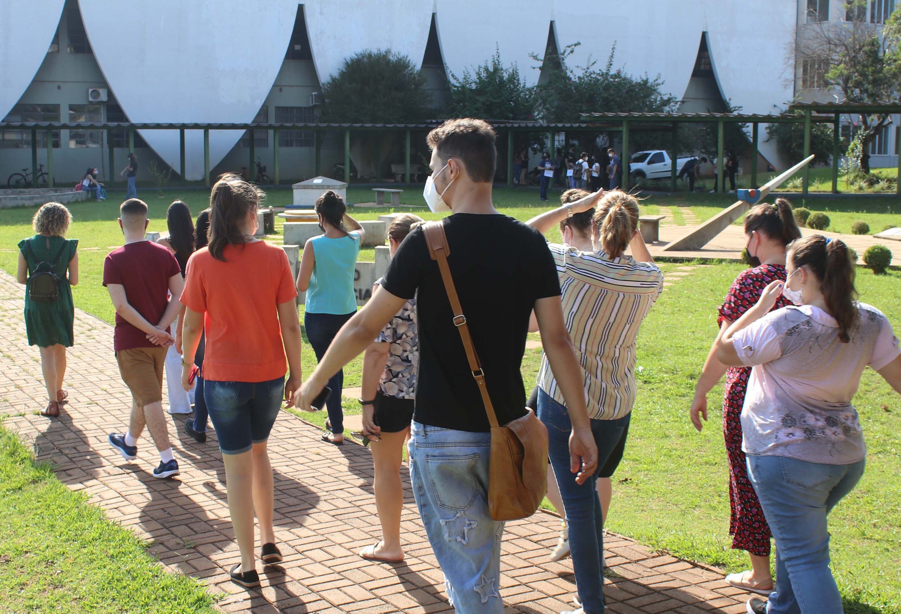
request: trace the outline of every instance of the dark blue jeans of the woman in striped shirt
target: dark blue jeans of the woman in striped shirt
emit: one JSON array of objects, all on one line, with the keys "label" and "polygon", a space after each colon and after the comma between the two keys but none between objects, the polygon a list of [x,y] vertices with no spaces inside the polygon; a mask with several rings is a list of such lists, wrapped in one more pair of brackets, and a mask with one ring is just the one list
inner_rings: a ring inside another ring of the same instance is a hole
[{"label": "dark blue jeans of the woman in striped shirt", "polygon": [[[584,484],[576,483],[569,471],[569,433],[572,422],[566,407],[543,390],[538,391],[538,419],[548,428],[548,456],[560,487],[560,498],[569,528],[569,551],[576,573],[576,589],[586,614],[604,612],[604,516],[597,500],[597,476]],[[597,446],[597,466],[607,458],[623,438],[632,413],[617,420],[591,420],[591,432]]]}]

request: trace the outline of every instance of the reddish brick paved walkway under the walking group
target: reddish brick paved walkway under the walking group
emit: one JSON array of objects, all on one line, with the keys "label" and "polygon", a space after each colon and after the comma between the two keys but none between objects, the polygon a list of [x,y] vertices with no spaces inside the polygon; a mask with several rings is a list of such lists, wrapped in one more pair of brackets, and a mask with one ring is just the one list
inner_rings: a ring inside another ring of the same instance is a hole
[{"label": "reddish brick paved walkway under the walking group", "polygon": [[[116,368],[112,328],[76,313],[77,346],[69,352],[67,413],[59,420],[36,415],[45,401],[36,348],[28,348],[22,319],[23,290],[0,271],[0,414],[6,427],[52,461],[59,479],[91,496],[109,518],[152,539],[150,552],[173,572],[202,578],[225,593],[227,611],[389,612],[451,611],[443,578],[425,538],[412,494],[407,494],[402,535],[404,564],[370,564],[357,555],[379,535],[372,496],[369,450],[319,441],[319,431],[285,412],[269,439],[275,470],[276,534],[286,555],[280,570],[262,577],[259,591],[228,580],[240,560],[228,520],[222,459],[215,438],[198,445],[173,421],[169,435],[181,465],[171,481],[156,480],[157,462],[148,435],[141,456],[123,461],[106,441],[122,430],[130,402]],[[406,483],[406,478],[405,478]],[[406,483],[407,492],[409,484]],[[501,594],[507,612],[572,609],[572,564],[551,563],[559,520],[538,513],[507,524]],[[287,546],[287,547],[286,547]],[[723,582],[721,573],[652,553],[623,537],[605,540],[610,576],[609,609],[616,614],[744,611],[747,596]]]}]

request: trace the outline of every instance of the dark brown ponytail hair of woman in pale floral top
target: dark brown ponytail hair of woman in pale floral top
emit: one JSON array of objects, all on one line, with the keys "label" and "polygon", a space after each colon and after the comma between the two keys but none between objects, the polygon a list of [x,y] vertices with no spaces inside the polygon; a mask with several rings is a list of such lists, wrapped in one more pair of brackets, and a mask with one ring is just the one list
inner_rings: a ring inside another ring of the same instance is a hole
[{"label": "dark brown ponytail hair of woman in pale floral top", "polygon": [[811,235],[788,246],[788,257],[796,267],[806,266],[820,283],[826,307],[839,325],[839,340],[848,343],[848,331],[857,323],[858,312],[854,287],[855,263],[842,239],[826,239]]}]

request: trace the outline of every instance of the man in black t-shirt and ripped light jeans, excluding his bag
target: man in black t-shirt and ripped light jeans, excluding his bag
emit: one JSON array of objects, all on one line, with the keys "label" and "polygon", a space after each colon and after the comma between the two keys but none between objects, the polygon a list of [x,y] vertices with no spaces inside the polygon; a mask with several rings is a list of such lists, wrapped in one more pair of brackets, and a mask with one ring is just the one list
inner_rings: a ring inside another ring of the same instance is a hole
[{"label": "man in black t-shirt and ripped light jeans, excluding his bag", "polygon": [[[430,132],[428,143],[433,175],[423,195],[433,212],[453,213],[443,221],[448,265],[497,421],[525,414],[520,366],[534,310],[573,424],[570,453],[579,467],[574,479],[584,483],[596,471],[597,449],[551,252],[540,232],[494,207],[491,126],[451,120]],[[367,348],[414,293],[420,341],[409,447],[414,496],[457,611],[500,614],[504,524],[488,512],[490,426],[423,229],[401,243],[384,283],[332,341],[296,392],[296,405],[309,411],[329,377]]]}]

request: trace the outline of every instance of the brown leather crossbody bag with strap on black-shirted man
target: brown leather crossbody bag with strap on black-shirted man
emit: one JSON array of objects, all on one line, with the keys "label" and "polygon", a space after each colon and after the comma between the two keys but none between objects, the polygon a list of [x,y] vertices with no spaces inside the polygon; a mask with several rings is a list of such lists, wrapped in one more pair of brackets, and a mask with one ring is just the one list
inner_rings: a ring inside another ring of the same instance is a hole
[{"label": "brown leather crossbody bag with strap on black-shirted man", "polygon": [[453,323],[460,331],[463,348],[469,360],[469,370],[478,384],[478,392],[485,403],[488,423],[491,425],[491,456],[488,465],[488,511],[495,520],[516,520],[535,513],[548,490],[548,429],[535,412],[525,408],[522,418],[497,423],[494,405],[488,396],[485,374],[478,362],[476,348],[469,335],[469,326],[460,298],[451,277],[448,256],[451,248],[444,234],[441,221],[430,221],[423,226],[425,242],[432,260],[438,261],[444,289],[448,293],[453,311]]}]

